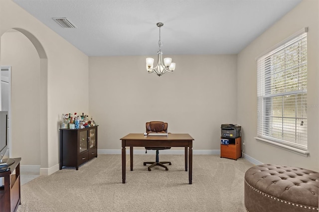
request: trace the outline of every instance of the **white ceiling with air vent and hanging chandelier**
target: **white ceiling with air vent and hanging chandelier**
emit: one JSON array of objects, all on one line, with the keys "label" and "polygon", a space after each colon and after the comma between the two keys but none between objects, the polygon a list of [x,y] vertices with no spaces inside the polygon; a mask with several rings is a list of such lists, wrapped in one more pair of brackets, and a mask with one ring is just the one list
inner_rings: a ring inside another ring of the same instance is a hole
[{"label": "white ceiling with air vent and hanging chandelier", "polygon": [[[301,0],[13,0],[88,56],[237,54]],[[77,28],[52,18],[66,17]]]}]

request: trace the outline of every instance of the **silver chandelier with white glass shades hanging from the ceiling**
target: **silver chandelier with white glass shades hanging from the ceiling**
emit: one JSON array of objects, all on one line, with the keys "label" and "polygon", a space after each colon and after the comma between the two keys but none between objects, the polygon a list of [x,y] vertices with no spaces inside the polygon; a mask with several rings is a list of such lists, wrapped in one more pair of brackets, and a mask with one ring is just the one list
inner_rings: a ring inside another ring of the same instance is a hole
[{"label": "silver chandelier with white glass shades hanging from the ceiling", "polygon": [[[162,27],[163,23],[156,24],[159,28]],[[158,64],[153,68],[154,59],[153,58],[146,58],[146,69],[149,73],[155,73],[159,77],[160,75],[165,74],[166,72],[173,73],[175,70],[175,63],[171,62],[171,58],[167,57],[164,58],[164,63],[162,60],[162,52],[160,47],[162,47],[163,43],[159,40],[159,51],[158,51]]]}]

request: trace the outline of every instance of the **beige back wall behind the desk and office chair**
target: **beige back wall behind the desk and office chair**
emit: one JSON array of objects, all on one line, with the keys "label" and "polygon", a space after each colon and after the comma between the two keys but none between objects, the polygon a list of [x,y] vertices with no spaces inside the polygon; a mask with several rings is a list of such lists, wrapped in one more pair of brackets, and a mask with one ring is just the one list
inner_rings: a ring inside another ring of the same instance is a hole
[{"label": "beige back wall behind the desk and office chair", "polygon": [[146,57],[89,57],[99,149],[120,150],[121,137],[162,120],[169,132],[189,133],[194,150],[219,150],[220,124],[236,122],[236,55],[172,55],[175,73],[161,77],[148,74]]}]

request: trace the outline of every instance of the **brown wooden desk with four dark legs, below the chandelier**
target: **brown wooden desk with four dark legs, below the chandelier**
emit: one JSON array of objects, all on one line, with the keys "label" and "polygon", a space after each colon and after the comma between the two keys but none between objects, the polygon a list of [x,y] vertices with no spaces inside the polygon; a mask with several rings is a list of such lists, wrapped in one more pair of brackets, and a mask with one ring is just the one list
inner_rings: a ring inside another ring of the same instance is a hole
[{"label": "brown wooden desk with four dark legs, below the chandelier", "polygon": [[[168,136],[147,136],[143,133],[130,133],[122,140],[122,182],[126,181],[126,148],[130,147],[130,161],[131,171],[133,171],[133,147],[156,147],[156,146],[170,146],[170,147],[185,147],[185,171],[187,172],[187,155],[188,155],[188,181],[192,184],[192,163],[193,163],[193,138],[189,134],[172,134]],[[188,154],[187,154],[188,148]]]}]

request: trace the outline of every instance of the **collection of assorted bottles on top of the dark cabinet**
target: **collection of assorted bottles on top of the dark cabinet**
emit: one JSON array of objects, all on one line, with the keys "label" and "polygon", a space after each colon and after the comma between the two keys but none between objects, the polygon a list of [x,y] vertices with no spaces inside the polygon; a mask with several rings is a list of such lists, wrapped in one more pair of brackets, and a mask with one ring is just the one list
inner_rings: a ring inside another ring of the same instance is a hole
[{"label": "collection of assorted bottles on top of the dark cabinet", "polygon": [[89,119],[88,115],[77,115],[75,112],[73,113],[63,113],[60,120],[60,128],[61,129],[82,129],[85,127],[95,126],[95,121],[91,116]]}]

